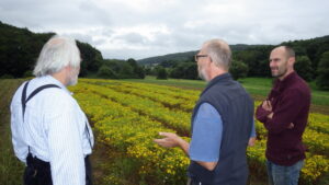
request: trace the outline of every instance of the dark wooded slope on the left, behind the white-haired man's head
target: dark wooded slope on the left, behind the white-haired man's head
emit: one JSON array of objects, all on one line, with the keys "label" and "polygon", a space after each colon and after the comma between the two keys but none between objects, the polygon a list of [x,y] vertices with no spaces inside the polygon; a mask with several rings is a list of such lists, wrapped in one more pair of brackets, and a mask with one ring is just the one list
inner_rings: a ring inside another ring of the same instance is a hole
[{"label": "dark wooded slope on the left, behind the white-haired man's head", "polygon": [[[44,44],[55,33],[33,33],[0,22],[0,78],[26,78],[32,76]],[[141,78],[144,68],[136,60],[103,59],[102,54],[88,43],[77,41],[81,54],[80,77]]]}]

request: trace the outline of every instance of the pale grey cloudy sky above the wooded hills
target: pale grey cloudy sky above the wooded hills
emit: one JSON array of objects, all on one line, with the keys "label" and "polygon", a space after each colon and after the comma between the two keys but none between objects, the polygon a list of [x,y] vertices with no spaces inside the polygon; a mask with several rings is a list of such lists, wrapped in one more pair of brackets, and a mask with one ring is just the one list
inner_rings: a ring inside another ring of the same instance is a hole
[{"label": "pale grey cloudy sky above the wooded hills", "polygon": [[329,35],[328,0],[1,0],[0,21],[87,42],[104,58]]}]

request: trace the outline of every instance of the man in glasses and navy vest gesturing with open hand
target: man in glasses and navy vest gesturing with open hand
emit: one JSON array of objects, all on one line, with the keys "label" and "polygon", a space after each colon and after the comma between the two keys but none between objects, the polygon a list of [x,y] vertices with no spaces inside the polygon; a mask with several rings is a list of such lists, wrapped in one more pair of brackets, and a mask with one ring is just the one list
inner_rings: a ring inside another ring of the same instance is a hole
[{"label": "man in glasses and navy vest gesturing with open hand", "polygon": [[155,142],[180,147],[191,159],[189,185],[247,184],[246,149],[254,137],[253,101],[228,73],[231,51],[222,39],[206,42],[195,56],[208,82],[194,106],[191,144],[171,132]]}]

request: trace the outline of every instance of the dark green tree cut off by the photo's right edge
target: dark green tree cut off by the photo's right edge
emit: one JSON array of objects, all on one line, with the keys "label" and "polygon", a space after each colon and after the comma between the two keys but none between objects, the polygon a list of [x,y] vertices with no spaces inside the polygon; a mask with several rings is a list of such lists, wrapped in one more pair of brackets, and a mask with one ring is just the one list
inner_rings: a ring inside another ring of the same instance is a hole
[{"label": "dark green tree cut off by the photo's right edge", "polygon": [[322,54],[317,72],[316,84],[320,89],[329,89],[329,50]]}]

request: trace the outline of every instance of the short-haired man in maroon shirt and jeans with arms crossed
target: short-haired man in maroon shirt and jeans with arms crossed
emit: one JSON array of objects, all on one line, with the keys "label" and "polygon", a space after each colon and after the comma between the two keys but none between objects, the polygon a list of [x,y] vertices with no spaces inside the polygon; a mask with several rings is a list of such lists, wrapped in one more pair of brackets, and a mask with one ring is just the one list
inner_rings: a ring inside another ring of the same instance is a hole
[{"label": "short-haired man in maroon shirt and jeans with arms crossed", "polygon": [[310,90],[294,71],[295,51],[280,46],[271,51],[270,68],[276,78],[256,117],[268,129],[266,165],[270,185],[297,185],[305,159],[305,130]]}]

